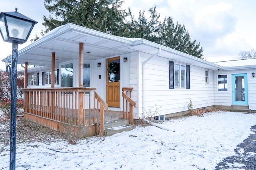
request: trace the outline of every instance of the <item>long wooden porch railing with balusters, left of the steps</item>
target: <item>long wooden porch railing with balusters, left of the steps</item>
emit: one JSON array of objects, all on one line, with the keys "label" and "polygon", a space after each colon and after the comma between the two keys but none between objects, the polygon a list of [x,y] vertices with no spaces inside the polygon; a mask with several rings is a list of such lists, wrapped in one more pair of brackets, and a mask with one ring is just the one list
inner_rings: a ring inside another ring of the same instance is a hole
[{"label": "long wooden porch railing with balusters, left of the steps", "polygon": [[60,131],[59,122],[94,126],[88,135],[98,133],[97,124],[100,122],[103,134],[104,108],[108,110],[108,105],[95,92],[96,88],[31,88],[23,91],[24,117],[27,114],[28,119]]}]

